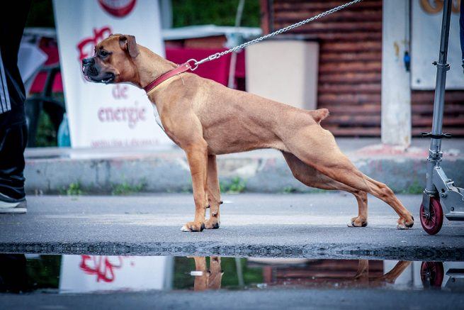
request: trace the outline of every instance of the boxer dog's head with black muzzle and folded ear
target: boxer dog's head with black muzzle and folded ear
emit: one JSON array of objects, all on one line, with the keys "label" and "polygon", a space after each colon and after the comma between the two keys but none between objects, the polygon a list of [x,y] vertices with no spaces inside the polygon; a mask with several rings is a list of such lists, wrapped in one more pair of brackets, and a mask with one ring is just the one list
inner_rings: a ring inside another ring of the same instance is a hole
[{"label": "boxer dog's head with black muzzle and folded ear", "polygon": [[95,55],[82,60],[82,73],[89,82],[136,82],[135,58],[140,50],[133,35],[110,35],[95,47]]}]

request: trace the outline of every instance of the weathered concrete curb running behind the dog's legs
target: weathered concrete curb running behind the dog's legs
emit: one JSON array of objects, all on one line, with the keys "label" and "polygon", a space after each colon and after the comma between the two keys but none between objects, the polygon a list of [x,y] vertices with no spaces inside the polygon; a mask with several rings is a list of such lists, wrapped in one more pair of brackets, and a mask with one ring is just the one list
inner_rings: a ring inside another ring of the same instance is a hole
[{"label": "weathered concrete curb running behind the dog's legs", "polygon": [[[345,152],[366,175],[388,184],[395,192],[418,193],[424,187],[426,153],[378,153],[375,148]],[[30,155],[30,154],[29,154]],[[245,192],[315,192],[296,180],[280,152],[258,150],[218,156],[220,181],[225,190]],[[448,177],[464,185],[464,157],[448,155]],[[191,177],[181,150],[165,150],[106,158],[33,157],[26,160],[26,191],[62,193],[70,184],[88,193],[110,193],[117,187],[142,192],[189,192]]]}]

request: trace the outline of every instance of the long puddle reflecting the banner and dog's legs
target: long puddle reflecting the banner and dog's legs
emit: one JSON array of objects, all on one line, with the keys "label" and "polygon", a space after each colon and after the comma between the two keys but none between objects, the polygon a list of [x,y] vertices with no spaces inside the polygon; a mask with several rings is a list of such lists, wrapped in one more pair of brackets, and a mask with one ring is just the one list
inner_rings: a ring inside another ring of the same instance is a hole
[{"label": "long puddle reflecting the banner and dog's legs", "polygon": [[464,291],[464,262],[0,254],[0,292],[205,289]]}]

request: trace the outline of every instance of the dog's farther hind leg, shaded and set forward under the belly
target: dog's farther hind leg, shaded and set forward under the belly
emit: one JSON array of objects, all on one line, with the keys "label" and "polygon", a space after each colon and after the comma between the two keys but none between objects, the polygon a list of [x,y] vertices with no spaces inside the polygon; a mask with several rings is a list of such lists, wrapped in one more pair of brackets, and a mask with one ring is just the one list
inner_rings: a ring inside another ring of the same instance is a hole
[{"label": "dog's farther hind leg, shaded and set forward under the belly", "polygon": [[346,184],[327,177],[327,175],[323,175],[291,153],[282,152],[282,154],[293,176],[302,182],[302,184],[309,187],[317,187],[318,189],[338,189],[353,194],[356,197],[356,201],[358,201],[358,216],[351,218],[348,225],[353,227],[365,227],[368,225],[368,196],[366,192],[353,189],[353,187],[349,187]]}]

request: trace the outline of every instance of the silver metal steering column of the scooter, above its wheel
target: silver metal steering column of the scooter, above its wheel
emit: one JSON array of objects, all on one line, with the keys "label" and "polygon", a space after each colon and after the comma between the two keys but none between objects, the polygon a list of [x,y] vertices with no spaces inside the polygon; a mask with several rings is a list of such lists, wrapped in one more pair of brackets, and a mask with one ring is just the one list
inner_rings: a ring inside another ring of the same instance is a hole
[{"label": "silver metal steering column of the scooter, above its wheel", "polygon": [[[448,57],[448,38],[450,32],[450,19],[451,19],[451,4],[452,0],[445,0],[443,5],[443,19],[441,21],[441,40],[440,40],[440,53],[438,55],[438,62],[436,65],[436,84],[435,84],[435,98],[434,98],[434,117],[432,121],[432,135],[441,135],[443,127],[443,109],[445,104],[445,85],[446,85],[446,71],[450,69],[450,65],[446,63]],[[433,194],[436,189],[432,182],[432,175],[434,167],[439,166],[441,162],[441,139],[431,138],[429,157],[428,160],[428,173],[426,192]]]}]

